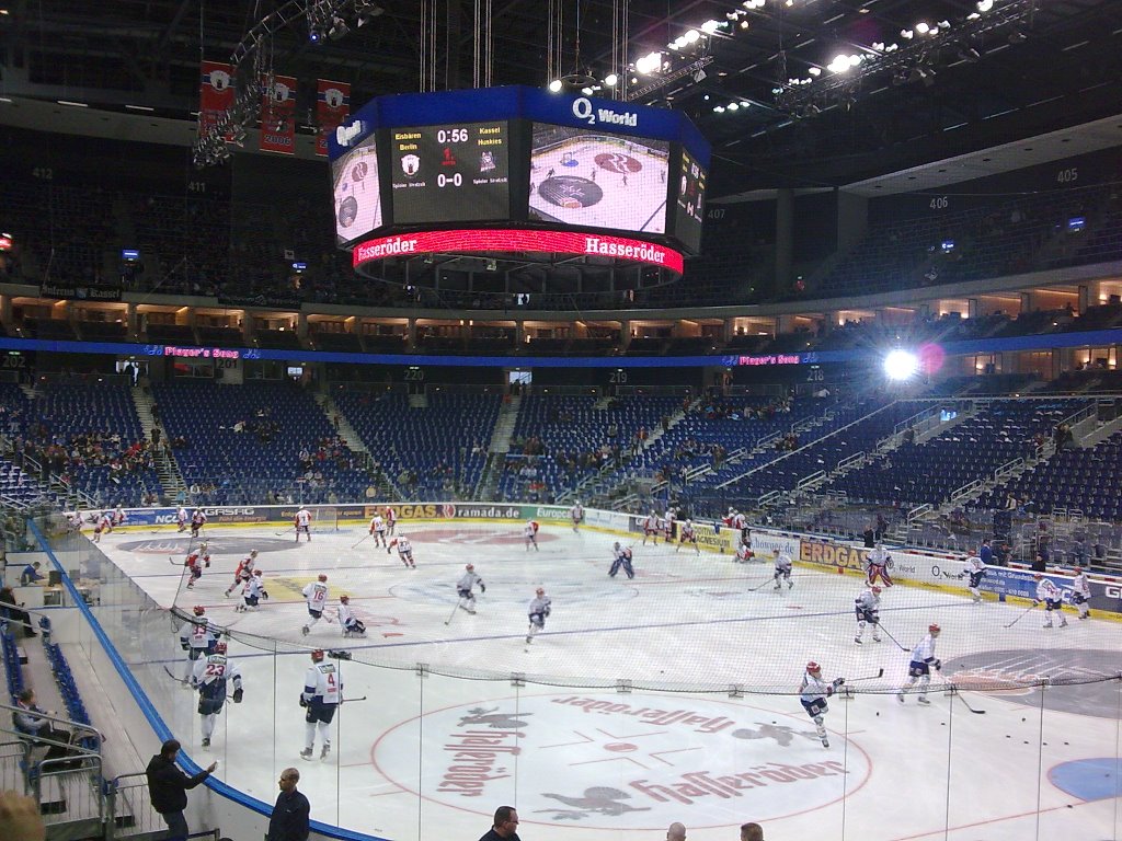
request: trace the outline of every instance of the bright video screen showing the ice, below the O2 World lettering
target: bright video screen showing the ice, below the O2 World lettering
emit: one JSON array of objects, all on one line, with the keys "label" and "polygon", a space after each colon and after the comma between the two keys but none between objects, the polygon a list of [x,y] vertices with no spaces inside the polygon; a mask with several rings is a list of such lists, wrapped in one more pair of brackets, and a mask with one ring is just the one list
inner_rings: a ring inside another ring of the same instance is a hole
[{"label": "bright video screen showing the ice, below the O2 World lettering", "polygon": [[666,232],[670,142],[533,124],[531,221]]}]

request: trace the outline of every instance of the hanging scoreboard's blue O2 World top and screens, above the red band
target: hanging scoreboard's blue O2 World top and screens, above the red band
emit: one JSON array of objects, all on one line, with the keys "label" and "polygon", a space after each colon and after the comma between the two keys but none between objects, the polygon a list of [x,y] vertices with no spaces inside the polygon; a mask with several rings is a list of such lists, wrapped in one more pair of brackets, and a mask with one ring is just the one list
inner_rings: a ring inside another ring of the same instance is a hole
[{"label": "hanging scoreboard's blue O2 World top and screens, above the red band", "polygon": [[678,111],[511,86],[381,96],[330,142],[335,232],[622,232],[697,252],[709,145]]}]

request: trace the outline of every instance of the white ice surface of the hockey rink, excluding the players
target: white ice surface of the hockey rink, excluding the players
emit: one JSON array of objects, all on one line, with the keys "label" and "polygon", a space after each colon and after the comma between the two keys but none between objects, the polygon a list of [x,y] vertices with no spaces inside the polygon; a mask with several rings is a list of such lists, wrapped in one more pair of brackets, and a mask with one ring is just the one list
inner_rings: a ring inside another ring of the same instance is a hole
[{"label": "white ice surface of the hockey rink, excluding the players", "polygon": [[[174,526],[101,540],[160,606],[202,604],[232,631],[246,701],[227,706],[210,749],[224,782],[272,802],[278,769],[297,765],[313,819],[402,840],[478,837],[503,804],[526,841],[661,838],[673,821],[712,841],[746,821],[770,839],[1122,838],[1122,684],[1102,680],[1122,672],[1115,622],[1068,612],[1069,627],[1043,629],[1024,603],[898,585],[882,641],[866,630],[856,645],[856,577],[797,565],[776,591],[770,563],[640,540],[635,579],[610,579],[613,543],[631,540],[604,532],[546,525],[527,551],[518,523],[398,528],[416,570],[361,527],[300,545],[279,527],[210,528],[213,565],[190,592],[190,540]],[[251,548],[270,599],[237,613],[223,592]],[[487,585],[473,616],[456,608],[468,562]],[[301,636],[300,592],[321,572],[330,604],[351,597],[365,639],[324,621]],[[537,585],[553,610],[526,645]],[[944,663],[932,704],[900,703],[901,646],[931,622]],[[193,693],[165,672],[184,668],[175,635],[154,628],[140,618],[122,656],[205,764]],[[341,708],[331,754],[320,760],[318,741],[306,763],[297,700],[314,646],[351,656],[338,660],[343,696],[365,700]],[[797,696],[811,659],[856,691],[830,700],[829,748]]]}]

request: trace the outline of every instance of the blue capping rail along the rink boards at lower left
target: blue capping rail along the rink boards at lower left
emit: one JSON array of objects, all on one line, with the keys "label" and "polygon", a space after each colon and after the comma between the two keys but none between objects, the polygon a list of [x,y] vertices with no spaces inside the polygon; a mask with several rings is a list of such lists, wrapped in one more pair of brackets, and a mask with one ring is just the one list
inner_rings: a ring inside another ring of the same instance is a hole
[{"label": "blue capping rail along the rink boards at lower left", "polygon": [[[101,627],[101,623],[98,621],[96,617],[94,617],[93,611],[90,610],[90,607],[85,603],[85,600],[82,598],[82,594],[77,591],[77,588],[74,586],[74,582],[71,581],[70,575],[66,574],[66,570],[63,569],[63,565],[58,562],[58,558],[55,557],[55,553],[52,551],[50,545],[43,536],[43,533],[39,530],[39,527],[35,524],[34,520],[28,520],[27,523],[28,523],[28,529],[35,537],[36,542],[39,544],[39,548],[44,553],[46,553],[47,557],[50,558],[50,563],[54,565],[55,570],[57,570],[58,573],[62,575],[62,584],[66,589],[66,592],[70,594],[71,601],[73,602],[74,607],[82,613],[82,617],[85,619],[86,623],[90,626],[90,629],[93,631],[94,637],[101,644],[101,647],[105,651],[105,656],[109,657],[109,660],[113,664],[113,668],[117,669],[117,674],[120,675],[121,681],[125,682],[126,687],[132,695],[132,700],[136,702],[137,706],[140,708],[140,712],[144,713],[144,717],[148,720],[148,723],[151,726],[153,732],[156,733],[156,738],[158,738],[160,741],[166,741],[167,739],[173,738],[171,729],[164,722],[164,719],[160,717],[155,705],[153,705],[151,701],[148,699],[147,693],[144,691],[144,688],[140,686],[140,683],[137,681],[136,676],[129,669],[128,664],[125,663],[125,659],[117,651],[117,648],[116,646],[113,646],[113,643],[109,638],[109,635],[105,634],[104,628]],[[180,751],[178,764],[183,767],[183,769],[187,774],[194,775],[202,770],[202,767],[200,767],[196,763],[194,763],[186,755],[185,750]],[[213,777],[208,777],[203,783],[203,785],[205,785],[208,788],[210,788],[219,796],[226,797],[227,800],[233,801],[240,806],[257,812],[263,817],[267,819],[270,814],[273,814],[272,803],[265,803],[264,801],[259,801],[256,797],[250,797],[248,794],[245,794],[243,792],[240,792],[237,788],[227,785],[226,783],[222,783],[221,780],[214,779]],[[344,830],[339,826],[331,826],[325,823],[320,823],[319,821],[312,821],[311,826],[312,831],[320,835],[323,835],[325,838],[340,839],[341,841],[387,841],[387,839],[379,838],[378,835],[367,835],[361,832],[352,832],[350,830]]]}]

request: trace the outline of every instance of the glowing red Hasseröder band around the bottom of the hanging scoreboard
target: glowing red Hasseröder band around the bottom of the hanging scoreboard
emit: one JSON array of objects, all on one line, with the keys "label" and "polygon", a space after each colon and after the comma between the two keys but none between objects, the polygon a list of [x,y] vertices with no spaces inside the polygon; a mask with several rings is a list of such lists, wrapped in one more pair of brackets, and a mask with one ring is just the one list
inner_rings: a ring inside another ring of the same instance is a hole
[{"label": "glowing red Hasser\u00f6der band around the bottom of the hanging scoreboard", "polygon": [[659,266],[682,274],[680,251],[625,237],[570,231],[524,231],[513,229],[465,229],[456,231],[422,231],[379,237],[355,246],[355,268],[373,260],[425,253],[496,251],[535,251],[588,257],[610,257],[649,266]]}]

